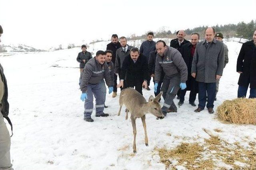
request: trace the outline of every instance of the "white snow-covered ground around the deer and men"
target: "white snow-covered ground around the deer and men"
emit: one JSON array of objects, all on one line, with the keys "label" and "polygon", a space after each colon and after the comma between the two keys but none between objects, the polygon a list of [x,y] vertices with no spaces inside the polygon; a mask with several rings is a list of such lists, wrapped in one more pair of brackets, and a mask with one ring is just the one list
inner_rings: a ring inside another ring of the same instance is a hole
[{"label": "white snow-covered ground around the deer and men", "polygon": [[[99,49],[105,50],[107,43],[90,45],[88,51],[93,50],[95,54]],[[236,59],[242,44],[226,44],[229,63],[220,80],[215,110],[224,100],[237,95]],[[125,107],[117,116],[119,90],[116,98],[107,93],[109,107],[104,112],[109,113],[109,117],[95,117],[94,109],[94,122],[83,120],[84,103],[78,87],[80,73],[74,68],[79,66],[78,52],[80,48],[11,56],[0,54],[14,126],[11,159],[15,170],[158,170],[165,166],[154,152],[155,147],[170,148],[185,141],[204,141],[209,135],[202,128],[221,129],[223,132],[218,135],[229,143],[238,141],[246,145],[245,138],[256,139],[255,125],[223,124],[216,119],[216,113],[210,115],[206,109],[195,113],[196,107],[188,104],[187,93],[178,113],[168,113],[162,120],[146,115],[148,147],[144,144],[141,120],[137,119],[137,154],[134,156],[132,124],[130,119],[125,120]],[[152,82],[150,88],[153,89]],[[148,100],[154,92],[143,90],[143,94]],[[177,104],[178,100],[174,102]]]}]

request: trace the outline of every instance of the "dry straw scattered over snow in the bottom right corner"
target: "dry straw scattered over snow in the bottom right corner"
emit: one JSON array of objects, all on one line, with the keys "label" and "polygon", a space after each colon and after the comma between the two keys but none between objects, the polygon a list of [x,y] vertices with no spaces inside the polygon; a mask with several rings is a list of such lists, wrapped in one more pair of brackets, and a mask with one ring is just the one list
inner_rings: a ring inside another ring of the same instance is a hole
[{"label": "dry straw scattered over snow in the bottom right corner", "polygon": [[[249,143],[250,148],[244,148],[238,142],[230,144],[219,137],[209,135],[210,138],[205,139],[204,143],[181,143],[173,149],[156,148],[160,161],[168,169],[175,168],[171,162],[173,159],[178,161],[177,165],[182,165],[188,170],[225,169],[216,166],[218,162],[230,165],[235,170],[256,169],[255,142]],[[245,166],[239,166],[236,162],[241,162]]]}]

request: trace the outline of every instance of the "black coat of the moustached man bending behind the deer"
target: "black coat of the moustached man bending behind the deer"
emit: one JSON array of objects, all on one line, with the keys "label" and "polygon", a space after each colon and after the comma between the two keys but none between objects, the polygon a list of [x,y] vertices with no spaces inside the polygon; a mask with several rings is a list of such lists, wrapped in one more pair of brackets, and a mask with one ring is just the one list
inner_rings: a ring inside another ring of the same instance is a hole
[{"label": "black coat of the moustached man bending behind the deer", "polygon": [[127,55],[121,68],[120,80],[147,80],[148,79],[148,64],[144,55],[140,54],[137,61],[131,59]]}]

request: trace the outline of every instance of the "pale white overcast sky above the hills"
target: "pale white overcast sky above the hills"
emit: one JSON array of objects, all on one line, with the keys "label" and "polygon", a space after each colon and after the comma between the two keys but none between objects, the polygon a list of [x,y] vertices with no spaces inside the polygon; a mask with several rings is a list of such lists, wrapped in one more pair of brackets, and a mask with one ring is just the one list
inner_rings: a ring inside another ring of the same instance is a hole
[{"label": "pale white overcast sky above the hills", "polygon": [[[256,20],[256,0],[0,0],[2,43],[49,47]],[[80,44],[77,44],[80,45]]]}]

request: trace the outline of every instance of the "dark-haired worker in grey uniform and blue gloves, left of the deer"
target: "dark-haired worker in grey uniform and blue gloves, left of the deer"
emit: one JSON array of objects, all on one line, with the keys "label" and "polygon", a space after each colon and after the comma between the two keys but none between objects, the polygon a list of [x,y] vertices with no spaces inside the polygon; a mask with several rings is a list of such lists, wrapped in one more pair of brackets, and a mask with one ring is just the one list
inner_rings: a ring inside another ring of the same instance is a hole
[{"label": "dark-haired worker in grey uniform and blue gloves, left of the deer", "polygon": [[103,112],[106,90],[102,88],[102,79],[105,78],[108,85],[108,93],[113,92],[114,81],[112,80],[108,64],[105,62],[106,53],[97,51],[96,57],[90,59],[84,67],[81,82],[81,97],[84,103],[84,120],[88,122],[94,121],[91,117],[93,109],[93,96],[96,100],[96,117],[106,117],[108,114]]}]

